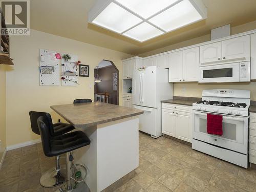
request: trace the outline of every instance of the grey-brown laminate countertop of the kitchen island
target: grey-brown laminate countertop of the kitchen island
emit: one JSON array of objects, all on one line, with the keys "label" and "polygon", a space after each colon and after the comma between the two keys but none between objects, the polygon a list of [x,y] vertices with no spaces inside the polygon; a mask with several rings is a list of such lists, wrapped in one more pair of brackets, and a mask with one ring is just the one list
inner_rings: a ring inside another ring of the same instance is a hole
[{"label": "grey-brown laminate countertop of the kitchen island", "polygon": [[53,105],[51,109],[76,128],[84,128],[143,114],[142,110],[103,102]]}]

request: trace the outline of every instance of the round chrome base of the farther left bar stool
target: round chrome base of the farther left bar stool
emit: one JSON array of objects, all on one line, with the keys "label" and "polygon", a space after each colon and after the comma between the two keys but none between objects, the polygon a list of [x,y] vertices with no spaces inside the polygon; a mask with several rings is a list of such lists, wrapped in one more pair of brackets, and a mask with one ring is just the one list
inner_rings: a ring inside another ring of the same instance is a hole
[{"label": "round chrome base of the farther left bar stool", "polygon": [[65,183],[65,176],[61,174],[60,170],[56,170],[55,168],[48,170],[40,178],[40,184],[43,187],[56,187],[63,183]]}]

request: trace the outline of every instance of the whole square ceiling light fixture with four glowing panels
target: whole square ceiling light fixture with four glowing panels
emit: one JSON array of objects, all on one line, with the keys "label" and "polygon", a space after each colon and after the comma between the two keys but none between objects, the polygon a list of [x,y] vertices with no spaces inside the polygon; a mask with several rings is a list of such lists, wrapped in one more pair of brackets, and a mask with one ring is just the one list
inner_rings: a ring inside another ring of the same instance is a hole
[{"label": "whole square ceiling light fixture with four glowing panels", "polygon": [[142,42],[206,17],[202,0],[97,0],[88,22]]}]

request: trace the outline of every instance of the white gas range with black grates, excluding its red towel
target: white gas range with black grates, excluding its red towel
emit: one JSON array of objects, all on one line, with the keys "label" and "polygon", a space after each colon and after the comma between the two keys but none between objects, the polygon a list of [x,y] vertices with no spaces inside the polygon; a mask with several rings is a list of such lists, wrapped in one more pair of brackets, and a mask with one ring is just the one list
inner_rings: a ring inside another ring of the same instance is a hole
[{"label": "white gas range with black grates, excluding its red towel", "polygon": [[[250,91],[204,90],[193,103],[192,148],[231,163],[248,167]],[[207,133],[207,113],[223,116],[223,135]]]}]

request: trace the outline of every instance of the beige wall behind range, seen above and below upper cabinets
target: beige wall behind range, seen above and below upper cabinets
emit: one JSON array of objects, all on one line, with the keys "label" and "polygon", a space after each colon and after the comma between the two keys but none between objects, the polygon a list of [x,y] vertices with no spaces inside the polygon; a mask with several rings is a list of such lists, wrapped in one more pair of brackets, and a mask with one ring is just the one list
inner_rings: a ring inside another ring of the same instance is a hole
[{"label": "beige wall behind range, seen above and below upper cabinets", "polygon": [[[256,21],[250,22],[244,25],[232,27],[231,33],[238,34],[246,31],[256,29]],[[157,49],[151,52],[141,54],[139,56],[145,57],[150,55],[155,55],[161,52],[170,51],[174,49],[179,49],[182,47],[187,47],[200,42],[205,42],[210,40],[210,34],[204,35],[198,38],[190,39],[187,41],[179,42],[178,44],[170,45],[161,49]],[[174,96],[184,96],[184,97],[202,97],[202,90],[205,89],[241,89],[251,91],[251,100],[256,100],[256,82],[250,83],[174,83]],[[185,90],[185,91],[183,91]]]}]

